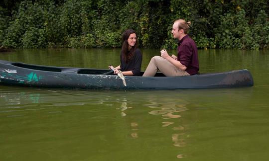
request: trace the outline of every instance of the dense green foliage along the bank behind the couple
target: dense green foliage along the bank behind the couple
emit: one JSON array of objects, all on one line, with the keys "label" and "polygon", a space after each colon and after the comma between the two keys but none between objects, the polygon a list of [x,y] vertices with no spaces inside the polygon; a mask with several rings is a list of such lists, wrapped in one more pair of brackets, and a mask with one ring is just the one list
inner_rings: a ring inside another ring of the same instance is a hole
[{"label": "dense green foliage along the bank behind the couple", "polygon": [[265,49],[268,0],[1,0],[0,45],[120,47],[136,30],[140,47],[175,48],[173,21],[192,22],[198,48]]}]

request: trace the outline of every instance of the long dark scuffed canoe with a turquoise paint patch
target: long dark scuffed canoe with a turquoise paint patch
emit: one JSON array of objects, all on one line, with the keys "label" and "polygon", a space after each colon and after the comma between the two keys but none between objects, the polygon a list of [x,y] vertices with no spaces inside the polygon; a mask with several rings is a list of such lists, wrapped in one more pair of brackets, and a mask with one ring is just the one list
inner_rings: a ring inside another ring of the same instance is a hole
[{"label": "long dark scuffed canoe with a turquoise paint patch", "polygon": [[185,77],[125,76],[127,86],[109,70],[62,68],[13,63],[0,60],[0,84],[32,87],[80,89],[183,89],[253,86],[248,70],[199,74]]}]

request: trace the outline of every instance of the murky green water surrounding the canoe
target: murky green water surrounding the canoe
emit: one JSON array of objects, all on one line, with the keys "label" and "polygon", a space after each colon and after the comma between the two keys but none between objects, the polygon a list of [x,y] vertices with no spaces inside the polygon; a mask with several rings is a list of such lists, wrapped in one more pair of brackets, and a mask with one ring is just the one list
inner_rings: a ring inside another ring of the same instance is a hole
[{"label": "murky green water surrounding the canoe", "polygon": [[[107,68],[119,64],[119,52],[18,50],[0,59]],[[145,70],[159,51],[142,53]],[[255,84],[157,91],[0,86],[0,161],[268,160],[269,51],[199,50],[199,61],[201,73],[249,69]]]}]

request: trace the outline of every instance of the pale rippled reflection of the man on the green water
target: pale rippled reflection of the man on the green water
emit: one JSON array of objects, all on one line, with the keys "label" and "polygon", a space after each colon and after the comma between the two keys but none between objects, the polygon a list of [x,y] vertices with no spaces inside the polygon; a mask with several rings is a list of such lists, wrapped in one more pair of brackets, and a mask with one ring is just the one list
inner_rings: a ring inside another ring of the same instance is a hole
[{"label": "pale rippled reflection of the man on the green water", "polygon": [[[185,127],[179,118],[182,117],[182,112],[188,110],[186,107],[189,104],[185,100],[161,100],[162,104],[156,103],[153,99],[149,101],[149,104],[146,104],[149,108],[154,108],[154,110],[148,112],[151,115],[161,115],[163,120],[162,127],[167,128],[171,127],[174,133],[171,135],[171,139],[173,142],[173,146],[175,147],[185,147],[188,145],[189,142],[189,135],[184,133]],[[176,102],[176,103],[175,103]],[[182,119],[182,118],[181,118]],[[176,156],[178,159],[186,158],[185,154],[177,154]]]}]

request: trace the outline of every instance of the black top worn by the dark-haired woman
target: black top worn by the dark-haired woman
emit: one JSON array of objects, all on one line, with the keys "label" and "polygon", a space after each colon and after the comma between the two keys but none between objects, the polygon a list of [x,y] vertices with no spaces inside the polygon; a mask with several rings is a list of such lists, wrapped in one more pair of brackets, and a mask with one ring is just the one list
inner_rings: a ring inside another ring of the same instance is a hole
[{"label": "black top worn by the dark-haired woman", "polygon": [[[127,55],[128,54],[130,54],[130,52],[127,53]],[[121,71],[132,71],[134,76],[140,76],[141,63],[142,54],[138,48],[135,49],[134,56],[128,63],[124,61],[123,52],[121,52]]]}]

